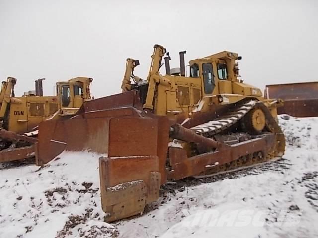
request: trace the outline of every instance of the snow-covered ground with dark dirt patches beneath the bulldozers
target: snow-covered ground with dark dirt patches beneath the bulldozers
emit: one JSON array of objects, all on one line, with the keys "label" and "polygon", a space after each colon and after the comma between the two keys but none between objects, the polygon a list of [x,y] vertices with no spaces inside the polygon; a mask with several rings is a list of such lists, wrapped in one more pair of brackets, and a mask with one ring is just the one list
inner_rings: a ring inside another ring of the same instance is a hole
[{"label": "snow-covered ground with dark dirt patches beneath the bulldozers", "polygon": [[[166,184],[144,215],[103,222],[98,157],[0,169],[0,238],[318,237],[318,118],[280,118],[282,160]],[[2,165],[3,166],[3,165]]]}]

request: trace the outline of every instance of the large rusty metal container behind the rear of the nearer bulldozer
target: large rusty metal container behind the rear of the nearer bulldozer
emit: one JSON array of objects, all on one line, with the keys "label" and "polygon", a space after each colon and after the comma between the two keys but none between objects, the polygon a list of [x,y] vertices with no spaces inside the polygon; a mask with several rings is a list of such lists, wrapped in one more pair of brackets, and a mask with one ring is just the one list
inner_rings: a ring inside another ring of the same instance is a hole
[{"label": "large rusty metal container behind the rear of the nearer bulldozer", "polygon": [[318,116],[318,82],[266,85],[264,96],[284,100],[284,106],[277,109],[278,114]]}]

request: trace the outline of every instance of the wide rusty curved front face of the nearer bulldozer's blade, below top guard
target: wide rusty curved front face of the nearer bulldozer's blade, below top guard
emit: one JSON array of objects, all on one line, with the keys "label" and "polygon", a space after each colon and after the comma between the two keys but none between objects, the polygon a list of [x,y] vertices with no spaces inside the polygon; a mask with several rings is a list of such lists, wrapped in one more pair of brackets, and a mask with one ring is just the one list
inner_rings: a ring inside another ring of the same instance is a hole
[{"label": "wide rusty curved front face of the nearer bulldozer's blade, below top guard", "polygon": [[108,153],[109,118],[45,121],[39,126],[37,165],[48,163],[63,150]]}]

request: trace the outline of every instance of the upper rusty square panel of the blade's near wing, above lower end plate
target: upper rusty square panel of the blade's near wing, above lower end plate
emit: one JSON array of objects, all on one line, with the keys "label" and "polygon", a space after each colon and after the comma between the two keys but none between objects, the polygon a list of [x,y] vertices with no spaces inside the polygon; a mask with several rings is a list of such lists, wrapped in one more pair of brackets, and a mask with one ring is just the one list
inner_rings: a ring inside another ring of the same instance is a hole
[{"label": "upper rusty square panel of the blade's near wing, above lower end plate", "polygon": [[159,157],[159,172],[163,184],[166,181],[169,128],[169,120],[164,116],[112,118],[108,157],[156,155]]}]

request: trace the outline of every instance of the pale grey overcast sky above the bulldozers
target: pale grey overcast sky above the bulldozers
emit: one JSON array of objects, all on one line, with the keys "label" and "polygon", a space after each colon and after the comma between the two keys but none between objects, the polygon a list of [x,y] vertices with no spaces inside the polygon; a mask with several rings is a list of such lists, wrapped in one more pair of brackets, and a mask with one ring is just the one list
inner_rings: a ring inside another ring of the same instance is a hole
[{"label": "pale grey overcast sky above the bulldozers", "polygon": [[0,80],[16,77],[17,96],[42,77],[47,95],[76,76],[96,97],[119,93],[126,58],[146,79],[154,44],[171,67],[181,50],[238,52],[242,79],[262,90],[318,80],[318,0],[0,0]]}]

